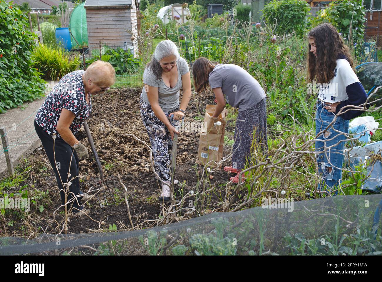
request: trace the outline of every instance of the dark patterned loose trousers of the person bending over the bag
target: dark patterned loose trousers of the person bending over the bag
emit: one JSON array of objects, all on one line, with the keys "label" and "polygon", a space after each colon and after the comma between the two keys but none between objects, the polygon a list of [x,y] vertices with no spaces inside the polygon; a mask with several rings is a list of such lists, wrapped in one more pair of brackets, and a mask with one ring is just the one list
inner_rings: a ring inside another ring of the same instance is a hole
[{"label": "dark patterned loose trousers of the person bending over the bag", "polygon": [[246,161],[254,154],[252,150],[255,144],[266,156],[268,152],[266,98],[252,108],[239,112],[236,118],[233,168],[244,169]]}]

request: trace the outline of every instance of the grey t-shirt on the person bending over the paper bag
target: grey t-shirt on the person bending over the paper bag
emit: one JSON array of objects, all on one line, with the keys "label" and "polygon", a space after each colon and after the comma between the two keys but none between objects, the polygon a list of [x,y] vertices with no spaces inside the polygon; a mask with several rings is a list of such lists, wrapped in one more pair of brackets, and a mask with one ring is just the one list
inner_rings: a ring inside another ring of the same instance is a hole
[{"label": "grey t-shirt on the person bending over the paper bag", "polygon": [[211,89],[221,87],[225,102],[239,111],[252,108],[267,97],[257,80],[238,65],[216,65],[208,81]]}]

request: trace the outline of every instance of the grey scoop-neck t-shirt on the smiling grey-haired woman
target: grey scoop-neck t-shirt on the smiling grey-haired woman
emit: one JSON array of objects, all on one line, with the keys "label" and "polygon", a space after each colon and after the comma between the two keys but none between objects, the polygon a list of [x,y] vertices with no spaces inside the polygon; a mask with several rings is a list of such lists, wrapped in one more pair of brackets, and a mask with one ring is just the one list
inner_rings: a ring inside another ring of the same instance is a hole
[{"label": "grey scoop-neck t-shirt on the smiling grey-haired woman", "polygon": [[[168,87],[162,79],[158,80],[154,73],[151,72],[150,67],[147,67],[143,72],[143,83],[158,88],[158,103],[163,111],[172,111],[178,107],[179,90],[182,88],[182,75],[189,72],[188,63],[182,57],[178,57],[176,66],[178,67],[178,82],[174,87]],[[150,104],[144,86],[141,93],[141,99]]]}]

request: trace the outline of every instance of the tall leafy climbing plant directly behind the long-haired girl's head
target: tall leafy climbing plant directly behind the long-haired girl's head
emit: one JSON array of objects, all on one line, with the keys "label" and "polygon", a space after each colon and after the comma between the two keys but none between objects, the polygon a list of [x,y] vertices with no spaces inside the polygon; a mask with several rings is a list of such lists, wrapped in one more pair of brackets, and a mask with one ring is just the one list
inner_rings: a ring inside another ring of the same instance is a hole
[{"label": "tall leafy climbing plant directly behind the long-haired girl's head", "polygon": [[[328,8],[319,11],[316,21],[333,24],[349,47],[355,49],[355,55],[359,56],[365,33],[365,13],[366,9],[362,6],[362,0],[336,1],[331,2]],[[351,36],[349,37],[350,24]]]}]

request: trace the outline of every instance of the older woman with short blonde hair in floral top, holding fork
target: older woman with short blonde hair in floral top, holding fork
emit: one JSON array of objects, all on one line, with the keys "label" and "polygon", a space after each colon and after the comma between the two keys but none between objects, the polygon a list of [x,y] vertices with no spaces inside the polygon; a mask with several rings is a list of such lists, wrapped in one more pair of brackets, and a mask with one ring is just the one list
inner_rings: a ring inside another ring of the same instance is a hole
[{"label": "older woman with short blonde hair in floral top, holding fork", "polygon": [[56,174],[62,204],[65,204],[64,183],[69,183],[67,201],[73,212],[80,215],[89,213],[81,200],[88,200],[92,195],[76,197],[82,194],[79,160],[88,158],[89,153],[75,134],[91,114],[91,95],[108,90],[114,83],[115,70],[107,62],[96,61],[86,71],[68,73],[50,91],[34,119],[34,128]]}]

